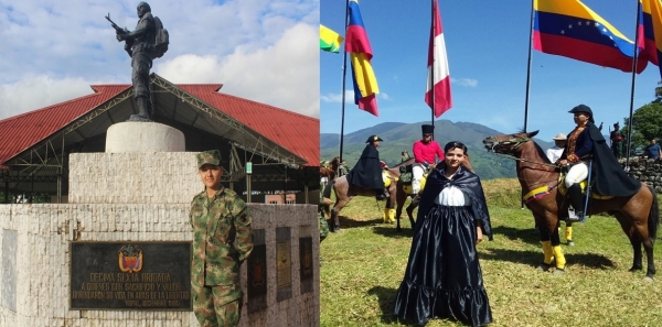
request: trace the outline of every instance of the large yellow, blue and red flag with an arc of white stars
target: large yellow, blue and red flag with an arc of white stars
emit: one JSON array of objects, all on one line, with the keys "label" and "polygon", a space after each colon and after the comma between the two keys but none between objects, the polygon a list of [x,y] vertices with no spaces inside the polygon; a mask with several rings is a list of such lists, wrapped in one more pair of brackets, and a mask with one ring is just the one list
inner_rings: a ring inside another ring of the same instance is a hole
[{"label": "large yellow, blue and red flag with an arc of white stars", "polygon": [[[533,48],[632,72],[634,42],[579,0],[534,0]],[[638,61],[641,73],[647,61]]]}]

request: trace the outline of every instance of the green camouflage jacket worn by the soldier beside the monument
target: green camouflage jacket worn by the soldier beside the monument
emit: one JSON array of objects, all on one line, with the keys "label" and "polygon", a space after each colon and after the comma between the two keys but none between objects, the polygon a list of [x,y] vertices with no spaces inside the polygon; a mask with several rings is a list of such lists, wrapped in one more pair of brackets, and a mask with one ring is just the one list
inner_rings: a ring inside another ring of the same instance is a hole
[{"label": "green camouflage jacket worn by the soldier beside the monument", "polygon": [[253,251],[253,218],[246,203],[224,187],[214,198],[203,190],[191,201],[189,217],[193,227],[191,282],[227,286],[231,299],[241,297],[239,264]]}]

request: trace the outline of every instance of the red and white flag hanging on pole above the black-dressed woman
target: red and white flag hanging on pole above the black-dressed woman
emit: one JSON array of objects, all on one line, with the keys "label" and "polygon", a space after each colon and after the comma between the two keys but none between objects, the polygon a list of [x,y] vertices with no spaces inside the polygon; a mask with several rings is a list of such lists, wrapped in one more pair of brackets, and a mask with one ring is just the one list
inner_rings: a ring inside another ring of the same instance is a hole
[{"label": "red and white flag hanging on pole above the black-dressed woman", "polygon": [[452,99],[450,97],[450,72],[448,70],[448,58],[446,57],[446,42],[444,41],[437,0],[433,0],[433,17],[425,102],[435,111],[435,117],[439,118],[441,113],[452,107]]}]

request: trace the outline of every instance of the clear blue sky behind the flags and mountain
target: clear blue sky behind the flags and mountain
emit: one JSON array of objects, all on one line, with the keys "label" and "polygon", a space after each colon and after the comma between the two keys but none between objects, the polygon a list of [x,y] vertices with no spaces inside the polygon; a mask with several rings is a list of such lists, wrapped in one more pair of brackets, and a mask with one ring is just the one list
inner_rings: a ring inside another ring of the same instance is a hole
[{"label": "clear blue sky behind the flags and mountain", "polygon": [[[636,0],[584,0],[586,6],[634,41]],[[345,1],[322,0],[320,23],[344,35]],[[360,0],[370,39],[372,65],[381,94],[380,116],[353,103],[351,68],[346,69],[344,133],[383,122],[431,120],[424,101],[431,2],[425,0]],[[524,128],[530,55],[531,1],[439,0],[446,39],[453,107],[440,119],[474,122],[503,133]],[[344,45],[344,44],[343,44]],[[341,131],[343,54],[320,54],[320,119],[322,133]],[[567,111],[589,106],[608,134],[615,122],[654,99],[658,66],[632,74],[531,51],[526,130],[551,141],[575,127]],[[388,140],[385,140],[386,142]],[[438,140],[441,144],[450,140]],[[460,140],[461,141],[461,140]]]}]

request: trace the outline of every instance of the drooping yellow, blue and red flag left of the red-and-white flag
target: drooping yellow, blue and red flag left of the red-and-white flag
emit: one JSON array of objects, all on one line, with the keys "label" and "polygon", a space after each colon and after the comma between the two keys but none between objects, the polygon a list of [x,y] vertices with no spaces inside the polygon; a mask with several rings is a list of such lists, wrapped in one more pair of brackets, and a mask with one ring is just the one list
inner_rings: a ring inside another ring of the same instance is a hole
[{"label": "drooping yellow, blue and red flag left of the red-and-white flag", "polygon": [[359,105],[359,109],[378,117],[380,111],[377,110],[375,95],[380,92],[380,87],[377,86],[377,79],[372,68],[372,48],[365,28],[363,26],[357,0],[350,0],[349,11],[350,23],[345,33],[345,52],[350,53],[352,63],[354,103]]}]

